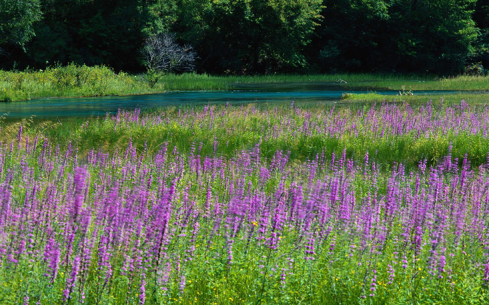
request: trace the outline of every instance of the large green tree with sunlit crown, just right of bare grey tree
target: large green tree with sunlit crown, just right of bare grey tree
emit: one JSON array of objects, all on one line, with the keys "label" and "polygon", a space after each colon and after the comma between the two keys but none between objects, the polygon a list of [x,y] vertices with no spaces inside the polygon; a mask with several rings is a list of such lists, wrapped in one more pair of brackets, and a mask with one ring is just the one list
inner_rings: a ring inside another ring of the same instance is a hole
[{"label": "large green tree with sunlit crown, just right of bare grey tree", "polygon": [[305,64],[301,48],[320,19],[318,0],[179,0],[173,26],[210,72],[273,72]]}]

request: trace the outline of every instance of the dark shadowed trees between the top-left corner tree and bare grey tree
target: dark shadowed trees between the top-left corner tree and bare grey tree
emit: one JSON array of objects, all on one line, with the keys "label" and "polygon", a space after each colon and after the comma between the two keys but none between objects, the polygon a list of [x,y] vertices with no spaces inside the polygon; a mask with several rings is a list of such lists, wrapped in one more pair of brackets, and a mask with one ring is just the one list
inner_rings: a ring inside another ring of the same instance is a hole
[{"label": "dark shadowed trees between the top-left corner tree and bare grey tree", "polygon": [[139,48],[148,33],[167,29],[175,8],[167,0],[41,0],[36,36],[17,52],[24,65],[107,64],[140,69]]}]

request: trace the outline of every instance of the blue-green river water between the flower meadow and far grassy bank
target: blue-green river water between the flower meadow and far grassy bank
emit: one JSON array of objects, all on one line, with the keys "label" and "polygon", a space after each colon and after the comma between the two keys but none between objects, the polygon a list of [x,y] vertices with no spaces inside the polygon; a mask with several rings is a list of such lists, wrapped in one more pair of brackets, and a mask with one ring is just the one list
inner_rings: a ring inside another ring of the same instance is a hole
[{"label": "blue-green river water between the flower meadow and far grassy bank", "polygon": [[[339,102],[345,91],[335,83],[267,83],[236,84],[236,90],[229,91],[171,91],[157,94],[93,97],[93,98],[51,98],[26,102],[0,103],[0,116],[7,119],[35,117],[73,118],[97,117],[115,113],[118,109],[159,107],[166,105],[199,104],[241,104],[249,102]],[[396,95],[399,91],[376,91],[380,94]],[[458,91],[420,91],[415,94],[453,94]]]}]

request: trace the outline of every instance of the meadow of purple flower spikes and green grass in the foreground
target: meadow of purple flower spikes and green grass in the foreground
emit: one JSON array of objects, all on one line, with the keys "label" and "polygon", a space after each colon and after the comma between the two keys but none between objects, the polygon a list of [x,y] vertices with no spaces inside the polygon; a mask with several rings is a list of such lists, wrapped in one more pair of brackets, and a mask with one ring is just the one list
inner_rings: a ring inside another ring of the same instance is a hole
[{"label": "meadow of purple flower spikes and green grass in the foreground", "polygon": [[2,122],[0,304],[486,304],[487,123],[466,102]]}]

